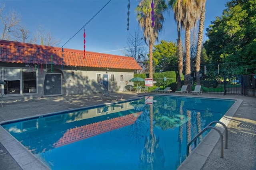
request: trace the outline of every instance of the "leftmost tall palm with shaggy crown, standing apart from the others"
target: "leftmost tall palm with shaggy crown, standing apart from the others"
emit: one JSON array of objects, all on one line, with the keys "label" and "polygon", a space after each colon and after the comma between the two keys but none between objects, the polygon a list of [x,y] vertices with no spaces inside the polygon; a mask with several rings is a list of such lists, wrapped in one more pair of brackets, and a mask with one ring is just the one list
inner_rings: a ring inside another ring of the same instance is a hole
[{"label": "leftmost tall palm with shaggy crown, standing apart from the others", "polygon": [[149,46],[149,78],[153,78],[153,45],[156,40],[158,41],[158,32],[163,29],[163,13],[167,9],[165,0],[154,0],[154,23],[152,24],[152,2],[153,0],[140,0],[135,8],[144,40]]}]

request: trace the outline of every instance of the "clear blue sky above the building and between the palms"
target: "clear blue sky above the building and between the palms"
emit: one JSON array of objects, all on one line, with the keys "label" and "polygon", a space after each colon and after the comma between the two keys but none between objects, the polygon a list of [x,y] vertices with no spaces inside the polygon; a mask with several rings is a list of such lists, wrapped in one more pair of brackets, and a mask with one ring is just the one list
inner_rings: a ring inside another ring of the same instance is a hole
[{"label": "clear blue sky above the building and between the palms", "polygon": [[[222,14],[228,1],[206,1],[205,29],[216,16]],[[6,11],[12,8],[19,12],[22,15],[21,23],[31,33],[35,32],[39,24],[43,25],[46,32],[51,32],[54,38],[61,40],[58,47],[84,50],[83,26],[88,22],[84,27],[86,51],[124,55],[122,49],[128,46],[127,35],[128,33],[134,35],[138,26],[135,13],[138,0],[130,0],[129,31],[127,31],[128,0],[0,0],[0,2],[6,4]],[[106,6],[99,12],[104,5]],[[99,13],[92,19],[97,12]],[[170,14],[166,12],[164,16],[164,30],[159,33],[159,43],[161,40],[176,42],[177,26],[173,12]],[[81,28],[82,30],[78,32]],[[182,42],[184,43],[184,38]]]}]

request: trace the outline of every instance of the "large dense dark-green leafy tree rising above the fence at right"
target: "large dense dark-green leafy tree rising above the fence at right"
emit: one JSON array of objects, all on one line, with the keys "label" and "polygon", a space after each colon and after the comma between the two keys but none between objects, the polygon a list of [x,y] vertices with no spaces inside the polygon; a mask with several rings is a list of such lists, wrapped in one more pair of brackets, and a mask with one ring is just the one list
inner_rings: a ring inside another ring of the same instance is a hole
[{"label": "large dense dark-green leafy tree rising above the fence at right", "polygon": [[[204,43],[212,58],[212,71],[220,65],[221,74],[256,73],[256,1],[232,0],[222,16],[207,28]],[[215,71],[216,73],[216,71]]]}]

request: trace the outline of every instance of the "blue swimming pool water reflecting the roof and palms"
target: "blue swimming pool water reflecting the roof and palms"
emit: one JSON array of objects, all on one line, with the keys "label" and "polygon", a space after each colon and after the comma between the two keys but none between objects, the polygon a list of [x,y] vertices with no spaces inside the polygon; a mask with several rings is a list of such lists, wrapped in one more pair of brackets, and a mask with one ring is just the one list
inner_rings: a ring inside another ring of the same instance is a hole
[{"label": "blue swimming pool water reflecting the roof and palms", "polygon": [[145,96],[2,126],[53,170],[176,170],[186,144],[234,103]]}]

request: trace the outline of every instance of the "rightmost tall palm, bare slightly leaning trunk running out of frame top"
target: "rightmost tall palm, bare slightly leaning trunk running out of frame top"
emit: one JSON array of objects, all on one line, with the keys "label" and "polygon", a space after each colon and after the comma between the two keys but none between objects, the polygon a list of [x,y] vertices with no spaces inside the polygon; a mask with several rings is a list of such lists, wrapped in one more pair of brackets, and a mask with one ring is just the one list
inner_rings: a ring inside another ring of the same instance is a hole
[{"label": "rightmost tall palm, bare slightly leaning trunk running out of frame top", "polygon": [[199,21],[198,40],[197,40],[197,51],[196,51],[196,85],[200,85],[200,62],[201,62],[201,49],[204,32],[204,20],[205,20],[205,4],[206,0],[202,0],[202,9]]}]

